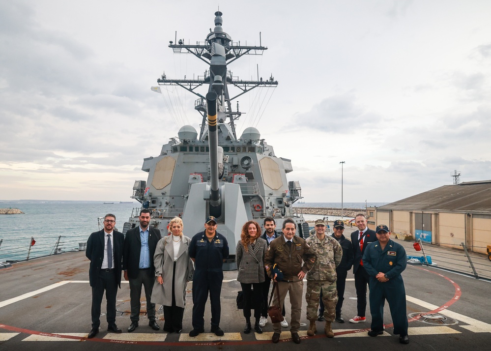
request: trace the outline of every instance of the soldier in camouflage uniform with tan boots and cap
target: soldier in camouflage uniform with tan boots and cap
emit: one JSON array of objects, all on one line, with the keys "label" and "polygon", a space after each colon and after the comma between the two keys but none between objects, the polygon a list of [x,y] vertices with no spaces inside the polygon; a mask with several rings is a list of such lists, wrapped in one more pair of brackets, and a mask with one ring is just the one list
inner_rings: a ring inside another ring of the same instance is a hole
[{"label": "soldier in camouflage uniform with tan boots and cap", "polygon": [[332,236],[325,234],[325,223],[323,220],[316,221],[316,235],[307,238],[306,242],[311,251],[316,254],[316,261],[312,269],[307,273],[307,319],[310,321],[307,335],[315,335],[317,309],[319,307],[319,296],[322,291],[324,302],[324,318],[326,324],[324,331],[328,338],[334,337],[331,322],[334,322],[338,292],[336,291],[336,267],[341,263],[343,249],[339,242]]}]

